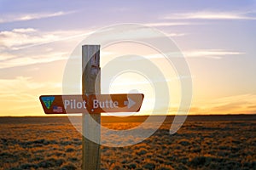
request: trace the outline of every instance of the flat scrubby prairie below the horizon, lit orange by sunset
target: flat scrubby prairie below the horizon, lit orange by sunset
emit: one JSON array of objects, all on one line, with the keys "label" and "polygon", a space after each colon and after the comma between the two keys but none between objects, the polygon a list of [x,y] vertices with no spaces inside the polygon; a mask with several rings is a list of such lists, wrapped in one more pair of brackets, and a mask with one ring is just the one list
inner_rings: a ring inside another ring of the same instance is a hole
[{"label": "flat scrubby prairie below the horizon, lit orange by sunset", "polygon": [[[146,119],[102,116],[102,126],[129,129]],[[101,169],[256,169],[256,115],[189,116],[171,135],[172,120],[138,144],[102,145]],[[81,169],[82,136],[67,117],[1,117],[0,129],[1,170]]]}]

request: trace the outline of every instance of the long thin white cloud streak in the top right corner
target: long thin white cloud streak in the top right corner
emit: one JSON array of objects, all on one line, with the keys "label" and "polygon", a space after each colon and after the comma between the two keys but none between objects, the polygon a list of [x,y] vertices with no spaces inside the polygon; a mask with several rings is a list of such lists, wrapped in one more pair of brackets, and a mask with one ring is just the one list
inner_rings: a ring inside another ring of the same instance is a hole
[{"label": "long thin white cloud streak in the top right corner", "polygon": [[199,11],[194,13],[171,14],[167,20],[256,20],[256,16],[241,12]]}]

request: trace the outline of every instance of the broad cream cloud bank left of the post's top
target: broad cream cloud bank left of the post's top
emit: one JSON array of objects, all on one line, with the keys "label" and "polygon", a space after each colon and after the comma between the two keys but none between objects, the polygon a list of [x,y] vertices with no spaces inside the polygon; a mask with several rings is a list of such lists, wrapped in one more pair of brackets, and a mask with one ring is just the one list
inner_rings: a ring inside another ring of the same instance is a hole
[{"label": "broad cream cloud bank left of the post's top", "polygon": [[[67,59],[88,31],[38,31],[19,28],[0,31],[0,69]],[[51,43],[49,45],[49,43]]]}]

